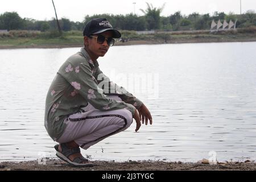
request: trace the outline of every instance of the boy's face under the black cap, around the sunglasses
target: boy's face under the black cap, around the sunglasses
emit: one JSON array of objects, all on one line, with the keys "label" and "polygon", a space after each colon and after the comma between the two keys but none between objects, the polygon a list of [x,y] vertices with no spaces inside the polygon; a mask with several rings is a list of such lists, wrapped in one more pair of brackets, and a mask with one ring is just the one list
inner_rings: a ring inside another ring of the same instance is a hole
[{"label": "boy's face under the black cap, around the sunglasses", "polygon": [[[111,31],[102,32],[100,35],[105,36],[106,39],[113,36]],[[97,37],[97,35],[92,36]],[[99,44],[97,43],[96,38],[84,38],[84,44],[88,46],[90,54],[92,54],[94,57],[102,57],[109,50],[109,45],[106,40],[104,41],[104,43]]]}]

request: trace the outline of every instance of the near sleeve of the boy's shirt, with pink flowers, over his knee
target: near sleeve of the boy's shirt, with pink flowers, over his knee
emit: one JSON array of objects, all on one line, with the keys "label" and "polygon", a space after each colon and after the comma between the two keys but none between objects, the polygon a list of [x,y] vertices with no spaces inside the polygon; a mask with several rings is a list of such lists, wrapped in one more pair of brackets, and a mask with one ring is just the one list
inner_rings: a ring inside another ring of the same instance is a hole
[{"label": "near sleeve of the boy's shirt, with pink flowers, over his knee", "polygon": [[75,88],[86,101],[98,110],[128,109],[134,115],[135,107],[125,102],[115,101],[103,94],[103,90],[98,87],[97,81],[88,64],[80,63],[72,65],[67,63],[60,68],[60,75],[65,78]]}]

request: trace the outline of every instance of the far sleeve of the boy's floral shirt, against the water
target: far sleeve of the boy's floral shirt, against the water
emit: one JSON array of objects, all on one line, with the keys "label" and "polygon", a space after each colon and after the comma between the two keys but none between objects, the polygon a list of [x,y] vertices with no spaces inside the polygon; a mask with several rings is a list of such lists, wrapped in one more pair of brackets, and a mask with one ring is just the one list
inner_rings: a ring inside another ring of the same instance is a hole
[{"label": "far sleeve of the boy's floral shirt, against the water", "polygon": [[106,76],[100,68],[96,70],[95,77],[98,82],[98,86],[103,90],[106,95],[118,95],[123,102],[133,105],[136,109],[139,109],[143,104],[138,98],[129,93],[122,86],[118,86],[113,81],[110,81],[109,77]]}]

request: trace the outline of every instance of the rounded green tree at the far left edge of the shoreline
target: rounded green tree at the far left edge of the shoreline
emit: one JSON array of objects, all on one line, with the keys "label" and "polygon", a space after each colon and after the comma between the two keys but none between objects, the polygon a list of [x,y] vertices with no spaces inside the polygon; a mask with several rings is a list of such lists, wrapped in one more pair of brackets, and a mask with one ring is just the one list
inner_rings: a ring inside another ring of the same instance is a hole
[{"label": "rounded green tree at the far left edge of the shoreline", "polygon": [[2,28],[7,30],[20,30],[23,28],[24,20],[16,12],[6,12],[0,15]]}]

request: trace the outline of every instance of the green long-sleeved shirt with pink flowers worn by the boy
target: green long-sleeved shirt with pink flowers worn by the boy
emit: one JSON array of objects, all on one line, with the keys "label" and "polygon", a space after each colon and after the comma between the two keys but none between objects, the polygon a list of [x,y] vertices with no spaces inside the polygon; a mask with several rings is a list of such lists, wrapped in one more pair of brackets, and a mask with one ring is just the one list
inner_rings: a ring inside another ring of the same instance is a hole
[{"label": "green long-sleeved shirt with pink flowers worn by the boy", "polygon": [[[117,102],[107,95],[118,95]],[[49,136],[56,140],[63,134],[67,123],[65,119],[79,112],[88,102],[102,111],[128,109],[134,115],[142,102],[114,84],[98,67],[98,62],[81,48],[60,67],[48,90],[44,126]]]}]

